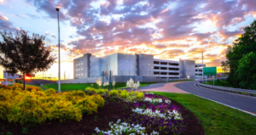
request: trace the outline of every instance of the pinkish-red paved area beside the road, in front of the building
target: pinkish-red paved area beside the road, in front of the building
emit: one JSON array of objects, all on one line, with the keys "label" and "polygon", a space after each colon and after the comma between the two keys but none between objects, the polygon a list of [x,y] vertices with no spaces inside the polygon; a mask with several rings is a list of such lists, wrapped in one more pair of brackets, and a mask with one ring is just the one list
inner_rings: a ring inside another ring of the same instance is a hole
[{"label": "pinkish-red paved area beside the road, in front of the building", "polygon": [[148,88],[148,89],[143,89],[139,91],[150,91],[150,92],[166,92],[166,93],[187,93],[184,92],[183,90],[174,87],[177,83],[181,82],[170,82],[165,85],[165,87],[157,87],[157,88]]}]

